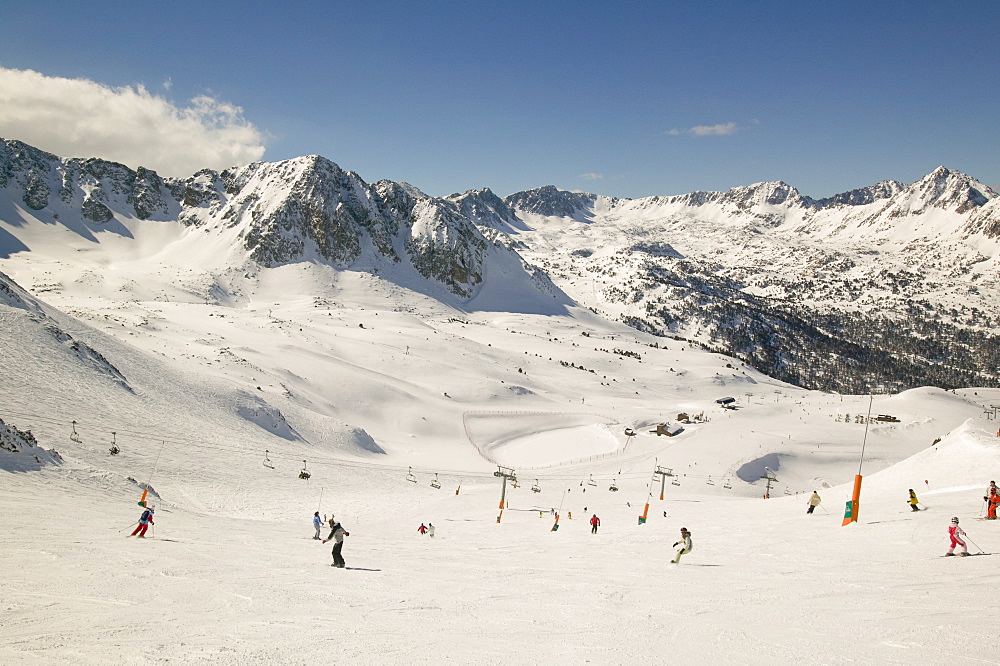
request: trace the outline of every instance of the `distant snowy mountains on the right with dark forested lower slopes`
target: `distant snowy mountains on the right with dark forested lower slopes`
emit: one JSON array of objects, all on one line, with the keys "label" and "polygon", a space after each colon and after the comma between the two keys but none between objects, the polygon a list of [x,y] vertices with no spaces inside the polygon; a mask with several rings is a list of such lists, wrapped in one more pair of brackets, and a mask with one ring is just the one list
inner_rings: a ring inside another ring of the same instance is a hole
[{"label": "distant snowy mountains on the right with dark forested lower slopes", "polygon": [[770,182],[636,200],[543,187],[504,203],[514,214],[494,206],[489,223],[512,247],[641,330],[815,388],[998,381],[1000,198],[962,173],[821,200]]}]

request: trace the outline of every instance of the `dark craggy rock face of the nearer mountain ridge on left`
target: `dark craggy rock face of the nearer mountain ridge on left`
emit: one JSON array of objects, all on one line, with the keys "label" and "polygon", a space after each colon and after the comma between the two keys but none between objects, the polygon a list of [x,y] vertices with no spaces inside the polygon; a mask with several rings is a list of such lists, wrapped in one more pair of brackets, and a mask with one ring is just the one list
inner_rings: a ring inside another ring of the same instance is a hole
[{"label": "dark craggy rock face of the nearer mountain ridge on left", "polygon": [[237,229],[249,259],[273,267],[318,259],[406,264],[469,298],[482,283],[488,241],[454,201],[405,183],[365,183],[319,156],[258,162],[222,173],[161,179],[99,159],[62,160],[0,140],[0,188],[33,211],[68,209],[85,223],[117,217],[179,220],[209,232]]}]

